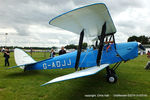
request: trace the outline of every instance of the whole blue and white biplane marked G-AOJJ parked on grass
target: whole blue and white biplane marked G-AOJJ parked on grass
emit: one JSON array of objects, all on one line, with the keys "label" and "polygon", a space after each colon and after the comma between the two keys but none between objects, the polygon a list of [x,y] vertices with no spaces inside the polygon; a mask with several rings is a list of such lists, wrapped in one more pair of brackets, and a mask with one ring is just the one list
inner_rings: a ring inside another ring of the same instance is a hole
[{"label": "whole blue and white biplane marked G-AOJJ parked on grass", "polygon": [[[107,81],[115,83],[117,81],[115,70],[121,62],[136,58],[138,47],[144,49],[138,42],[115,42],[116,28],[103,3],[95,3],[63,13],[50,20],[49,24],[79,34],[78,50],[37,62],[24,51],[15,49],[17,66],[11,68],[20,67],[24,71],[75,68],[76,71],[57,77],[41,86],[93,75],[105,68]],[[82,51],[84,35],[93,37],[94,48]],[[110,68],[110,64],[114,63],[115,65]],[[80,67],[87,67],[87,69],[78,71]]]}]

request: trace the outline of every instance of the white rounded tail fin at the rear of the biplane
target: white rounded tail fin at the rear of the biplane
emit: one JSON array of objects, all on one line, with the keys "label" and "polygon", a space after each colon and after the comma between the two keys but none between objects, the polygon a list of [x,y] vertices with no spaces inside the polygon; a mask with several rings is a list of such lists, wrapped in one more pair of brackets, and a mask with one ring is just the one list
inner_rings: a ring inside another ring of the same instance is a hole
[{"label": "white rounded tail fin at the rear of the biplane", "polygon": [[18,48],[14,50],[14,56],[15,56],[15,62],[17,66],[20,66],[20,68],[22,69],[24,69],[24,66],[22,65],[36,63],[36,61],[31,56],[29,56],[23,50],[18,49]]}]

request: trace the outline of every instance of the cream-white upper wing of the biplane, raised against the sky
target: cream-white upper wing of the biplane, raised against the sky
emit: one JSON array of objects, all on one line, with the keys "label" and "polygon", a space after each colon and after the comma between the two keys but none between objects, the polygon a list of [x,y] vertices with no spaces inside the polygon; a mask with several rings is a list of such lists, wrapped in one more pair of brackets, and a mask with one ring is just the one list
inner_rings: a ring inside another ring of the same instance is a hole
[{"label": "cream-white upper wing of the biplane, raised against the sky", "polygon": [[106,5],[95,3],[61,14],[50,20],[49,24],[76,34],[80,34],[84,29],[86,36],[97,37],[101,34],[105,22],[106,35],[115,33],[116,28]]}]

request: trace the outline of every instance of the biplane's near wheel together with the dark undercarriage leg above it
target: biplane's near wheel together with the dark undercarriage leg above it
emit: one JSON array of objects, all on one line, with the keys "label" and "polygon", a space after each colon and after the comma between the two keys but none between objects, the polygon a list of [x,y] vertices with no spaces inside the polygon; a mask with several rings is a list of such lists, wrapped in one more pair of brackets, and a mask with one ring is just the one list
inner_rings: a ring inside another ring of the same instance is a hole
[{"label": "biplane's near wheel together with the dark undercarriage leg above it", "polygon": [[107,74],[106,74],[106,80],[109,83],[116,83],[117,82],[117,75],[113,69],[110,69],[109,66],[106,68]]}]

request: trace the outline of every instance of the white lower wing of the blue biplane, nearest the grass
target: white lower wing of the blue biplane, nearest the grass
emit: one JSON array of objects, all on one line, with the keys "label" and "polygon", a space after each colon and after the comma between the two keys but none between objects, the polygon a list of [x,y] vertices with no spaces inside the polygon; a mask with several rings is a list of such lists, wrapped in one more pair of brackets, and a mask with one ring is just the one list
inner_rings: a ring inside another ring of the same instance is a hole
[{"label": "white lower wing of the blue biplane, nearest the grass", "polygon": [[60,82],[60,81],[74,79],[74,78],[93,75],[93,74],[96,74],[97,72],[101,71],[102,69],[104,69],[108,66],[109,66],[109,64],[103,64],[103,65],[100,65],[100,66],[95,66],[95,67],[91,67],[91,68],[88,68],[88,69],[77,71],[77,72],[74,72],[74,73],[71,73],[71,74],[60,76],[60,77],[57,77],[57,78],[55,78],[55,79],[53,79],[53,80],[51,80],[51,81],[49,81],[49,82],[47,82],[47,83],[45,83],[41,86],[51,84],[51,83],[55,83],[55,82]]}]

